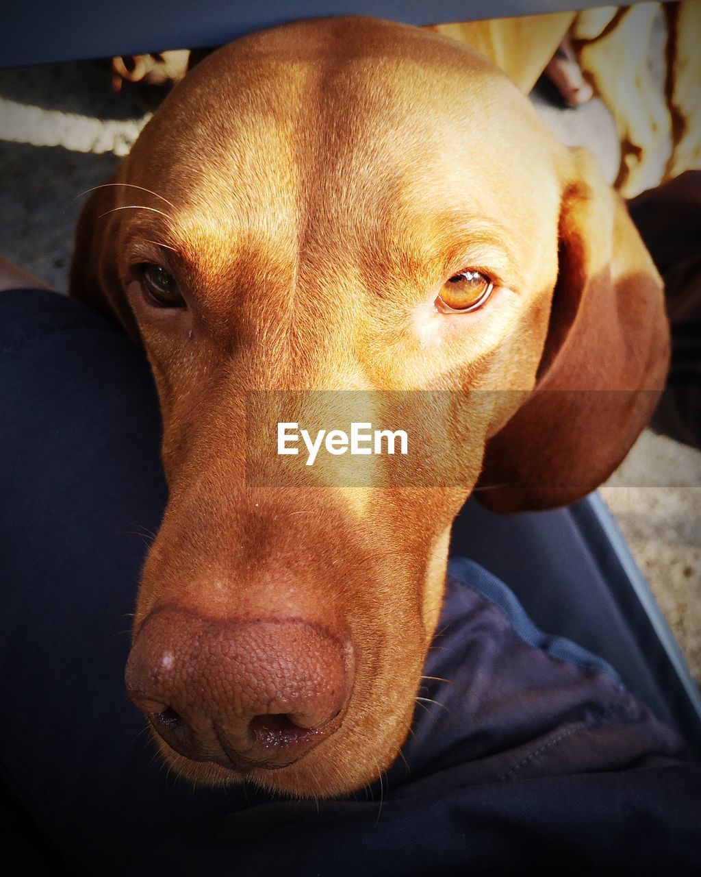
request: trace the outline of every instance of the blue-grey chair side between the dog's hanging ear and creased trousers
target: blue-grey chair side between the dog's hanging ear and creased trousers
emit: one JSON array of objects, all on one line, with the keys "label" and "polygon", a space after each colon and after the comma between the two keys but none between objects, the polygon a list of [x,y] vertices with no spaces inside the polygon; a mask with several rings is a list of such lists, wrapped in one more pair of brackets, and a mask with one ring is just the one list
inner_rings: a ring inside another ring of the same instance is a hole
[{"label": "blue-grey chair side between the dog's hanging ear and creased trousers", "polygon": [[504,581],[542,630],[609,661],[627,689],[682,731],[701,758],[701,717],[589,498],[514,516],[471,499],[453,524],[451,551]]}]

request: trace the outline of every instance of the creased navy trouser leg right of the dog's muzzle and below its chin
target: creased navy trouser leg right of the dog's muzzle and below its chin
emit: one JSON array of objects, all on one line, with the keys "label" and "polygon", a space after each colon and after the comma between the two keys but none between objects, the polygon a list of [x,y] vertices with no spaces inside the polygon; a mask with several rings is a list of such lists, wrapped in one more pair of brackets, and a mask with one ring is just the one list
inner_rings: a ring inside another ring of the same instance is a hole
[{"label": "creased navy trouser leg right of the dog's muzzle and below its chin", "polygon": [[490,574],[457,568],[426,670],[450,683],[427,686],[382,789],[238,811],[126,873],[694,873],[701,766],[608,674],[526,643],[482,595],[504,587]]}]

